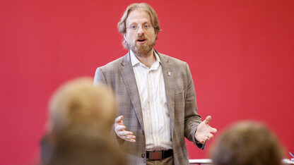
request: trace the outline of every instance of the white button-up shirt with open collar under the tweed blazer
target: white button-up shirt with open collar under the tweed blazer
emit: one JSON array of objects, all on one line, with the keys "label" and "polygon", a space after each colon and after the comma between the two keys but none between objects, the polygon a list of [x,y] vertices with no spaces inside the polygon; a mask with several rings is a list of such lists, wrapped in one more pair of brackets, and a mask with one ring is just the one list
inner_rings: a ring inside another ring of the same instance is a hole
[{"label": "white button-up shirt with open collar under the tweed blazer", "polygon": [[148,68],[130,51],[140,95],[147,151],[172,149],[163,71],[158,54],[153,52],[156,61]]}]

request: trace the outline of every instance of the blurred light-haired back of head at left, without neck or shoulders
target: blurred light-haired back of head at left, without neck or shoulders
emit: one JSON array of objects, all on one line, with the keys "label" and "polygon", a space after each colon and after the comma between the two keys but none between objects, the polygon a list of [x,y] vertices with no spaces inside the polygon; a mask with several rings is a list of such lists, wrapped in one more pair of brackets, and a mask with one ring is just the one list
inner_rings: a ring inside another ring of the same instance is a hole
[{"label": "blurred light-haired back of head at left, without neck or shoulders", "polygon": [[49,132],[55,135],[65,130],[110,132],[115,114],[114,94],[105,85],[94,87],[92,78],[77,78],[54,93],[49,104]]}]

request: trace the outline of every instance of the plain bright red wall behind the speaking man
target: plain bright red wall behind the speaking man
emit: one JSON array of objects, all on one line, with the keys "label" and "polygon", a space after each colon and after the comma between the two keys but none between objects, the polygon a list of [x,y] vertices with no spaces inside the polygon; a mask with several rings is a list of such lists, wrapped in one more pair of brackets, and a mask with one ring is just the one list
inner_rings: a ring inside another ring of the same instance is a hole
[{"label": "plain bright red wall behind the speaking man", "polygon": [[[127,53],[116,25],[133,2],[0,1],[0,164],[39,157],[47,103],[62,82]],[[155,49],[189,63],[199,114],[218,130],[264,122],[286,157],[294,152],[294,1],[146,2],[163,29]],[[201,151],[187,142],[190,159],[208,158],[212,143]]]}]

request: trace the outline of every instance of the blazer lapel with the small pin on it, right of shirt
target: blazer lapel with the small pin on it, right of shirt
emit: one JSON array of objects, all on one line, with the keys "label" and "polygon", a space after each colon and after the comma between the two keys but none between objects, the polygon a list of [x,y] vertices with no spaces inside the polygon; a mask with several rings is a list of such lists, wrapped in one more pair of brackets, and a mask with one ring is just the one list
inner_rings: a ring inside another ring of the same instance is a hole
[{"label": "blazer lapel with the small pin on it, right of shirt", "polygon": [[161,66],[163,68],[163,79],[165,80],[165,93],[167,99],[167,109],[170,111],[170,133],[174,133],[175,126],[175,87],[173,83],[173,74],[172,74],[172,63],[168,61],[165,56],[158,53],[160,58]]}]

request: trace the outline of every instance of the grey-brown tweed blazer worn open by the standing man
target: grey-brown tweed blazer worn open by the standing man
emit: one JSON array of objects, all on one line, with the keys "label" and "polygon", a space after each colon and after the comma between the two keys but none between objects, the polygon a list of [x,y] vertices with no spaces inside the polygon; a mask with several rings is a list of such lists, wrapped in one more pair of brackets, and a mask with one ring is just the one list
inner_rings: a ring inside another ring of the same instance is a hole
[{"label": "grey-brown tweed blazer worn open by the standing man", "polygon": [[[174,161],[175,164],[189,164],[184,137],[204,149],[204,145],[197,143],[194,138],[196,128],[201,123],[201,116],[197,112],[192,75],[186,62],[160,54],[158,51],[156,53],[163,68]],[[117,98],[117,115],[124,116],[124,125],[136,136],[135,143],[117,137],[120,149],[127,155],[128,164],[146,164],[141,102],[129,53],[97,68],[94,85],[100,82],[114,90]]]}]

